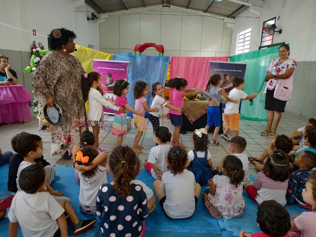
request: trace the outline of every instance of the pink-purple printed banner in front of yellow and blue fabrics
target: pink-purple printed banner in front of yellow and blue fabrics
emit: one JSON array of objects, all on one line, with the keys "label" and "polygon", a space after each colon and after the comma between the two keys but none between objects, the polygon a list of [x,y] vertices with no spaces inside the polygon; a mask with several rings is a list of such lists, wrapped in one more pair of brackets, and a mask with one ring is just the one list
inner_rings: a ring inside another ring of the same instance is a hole
[{"label": "pink-purple printed banner in front of yellow and blue fabrics", "polygon": [[[101,75],[101,89],[104,92],[104,98],[115,103],[117,96],[113,94],[115,81],[119,79],[127,79],[128,62],[97,60],[93,59],[93,71]],[[103,111],[108,114],[114,114],[114,110],[103,106]]]}]

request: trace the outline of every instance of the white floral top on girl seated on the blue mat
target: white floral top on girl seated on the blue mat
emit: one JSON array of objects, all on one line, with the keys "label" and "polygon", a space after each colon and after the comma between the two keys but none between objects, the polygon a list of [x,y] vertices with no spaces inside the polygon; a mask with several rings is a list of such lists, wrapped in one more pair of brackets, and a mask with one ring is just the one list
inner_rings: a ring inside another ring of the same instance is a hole
[{"label": "white floral top on girl seated on the blue mat", "polygon": [[229,177],[225,175],[215,175],[213,182],[216,185],[215,196],[207,195],[212,205],[226,219],[242,215],[245,206],[242,197],[242,185],[235,187],[235,185],[230,184]]}]

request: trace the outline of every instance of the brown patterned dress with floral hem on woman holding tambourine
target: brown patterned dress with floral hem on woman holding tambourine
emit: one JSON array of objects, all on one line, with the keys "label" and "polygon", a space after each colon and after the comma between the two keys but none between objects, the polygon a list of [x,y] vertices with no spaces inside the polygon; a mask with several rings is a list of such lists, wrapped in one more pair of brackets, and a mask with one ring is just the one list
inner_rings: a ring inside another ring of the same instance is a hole
[{"label": "brown patterned dress with floral hem on woman holding tambourine", "polygon": [[52,50],[43,57],[34,73],[34,94],[40,103],[46,104],[43,93],[49,92],[60,106],[63,119],[50,125],[51,155],[72,153],[74,144],[80,143],[80,135],[87,129],[87,118],[81,90],[84,70],[77,58],[64,57]]}]

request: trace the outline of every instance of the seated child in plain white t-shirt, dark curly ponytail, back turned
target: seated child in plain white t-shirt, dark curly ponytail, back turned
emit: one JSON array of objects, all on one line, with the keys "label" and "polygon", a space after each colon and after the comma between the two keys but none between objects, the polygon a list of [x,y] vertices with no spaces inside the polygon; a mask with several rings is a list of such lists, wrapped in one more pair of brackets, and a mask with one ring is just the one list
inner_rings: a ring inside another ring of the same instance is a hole
[{"label": "seated child in plain white t-shirt, dark curly ponytail, back turned", "polygon": [[170,171],[162,174],[161,181],[154,182],[162,211],[172,219],[192,216],[201,192],[201,186],[196,184],[194,174],[185,168],[187,162],[188,155],[184,148],[172,147],[167,156]]}]

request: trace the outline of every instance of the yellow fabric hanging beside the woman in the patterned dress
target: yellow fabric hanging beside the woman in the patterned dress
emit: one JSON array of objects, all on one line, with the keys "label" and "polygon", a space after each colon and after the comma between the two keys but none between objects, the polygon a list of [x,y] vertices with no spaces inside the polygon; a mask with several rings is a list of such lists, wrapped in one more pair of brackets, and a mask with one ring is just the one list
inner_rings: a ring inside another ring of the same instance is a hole
[{"label": "yellow fabric hanging beside the woman in the patterned dress", "polygon": [[80,61],[84,71],[90,73],[93,71],[93,59],[109,60],[114,54],[104,53],[95,49],[86,48],[76,44],[77,51],[71,53]]}]

